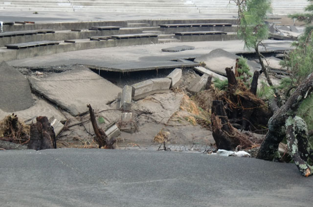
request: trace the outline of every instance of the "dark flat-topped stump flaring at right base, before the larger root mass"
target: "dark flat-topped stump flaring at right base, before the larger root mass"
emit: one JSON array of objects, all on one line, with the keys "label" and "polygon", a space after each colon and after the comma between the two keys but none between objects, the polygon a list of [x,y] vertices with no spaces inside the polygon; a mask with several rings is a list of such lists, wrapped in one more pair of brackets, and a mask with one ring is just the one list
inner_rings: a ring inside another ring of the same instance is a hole
[{"label": "dark flat-topped stump flaring at right base, before the larger root mass", "polygon": [[252,141],[245,134],[238,132],[229,122],[222,101],[212,104],[212,134],[218,149],[234,151],[251,148]]}]

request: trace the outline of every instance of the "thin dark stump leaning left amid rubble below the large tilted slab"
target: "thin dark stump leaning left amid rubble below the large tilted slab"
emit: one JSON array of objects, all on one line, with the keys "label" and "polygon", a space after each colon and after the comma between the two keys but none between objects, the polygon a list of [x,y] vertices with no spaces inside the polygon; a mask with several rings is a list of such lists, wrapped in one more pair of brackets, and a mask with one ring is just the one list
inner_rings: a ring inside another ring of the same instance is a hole
[{"label": "thin dark stump leaning left amid rubble below the large tilted slab", "polygon": [[90,104],[87,104],[87,107],[89,108],[89,113],[90,113],[90,120],[92,124],[93,131],[96,135],[94,140],[98,143],[99,148],[104,148],[104,149],[114,149],[114,143],[116,142],[116,139],[111,138],[109,139],[105,132],[98,127],[98,124],[96,122],[96,118],[94,115],[94,111],[91,107]]}]

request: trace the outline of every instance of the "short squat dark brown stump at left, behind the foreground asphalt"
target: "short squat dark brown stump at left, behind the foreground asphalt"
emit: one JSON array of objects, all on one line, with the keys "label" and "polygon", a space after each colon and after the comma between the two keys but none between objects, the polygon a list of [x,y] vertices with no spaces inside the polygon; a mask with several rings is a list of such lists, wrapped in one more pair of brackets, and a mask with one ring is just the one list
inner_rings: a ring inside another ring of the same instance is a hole
[{"label": "short squat dark brown stump at left, behind the foreground asphalt", "polygon": [[38,116],[37,122],[30,126],[28,149],[45,150],[56,148],[56,137],[46,116]]}]

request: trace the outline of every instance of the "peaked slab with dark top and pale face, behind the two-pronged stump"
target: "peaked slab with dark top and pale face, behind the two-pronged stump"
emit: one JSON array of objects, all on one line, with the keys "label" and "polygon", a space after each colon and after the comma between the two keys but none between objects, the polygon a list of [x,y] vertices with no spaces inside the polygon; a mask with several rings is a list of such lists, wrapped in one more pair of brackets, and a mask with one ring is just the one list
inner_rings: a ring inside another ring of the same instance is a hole
[{"label": "peaked slab with dark top and pale face, behind the two-pronged stump", "polygon": [[[225,68],[230,68],[232,66],[235,67],[237,58],[240,58],[240,56],[229,53],[223,49],[215,49],[209,54],[197,57],[195,62],[203,62],[206,64],[205,67],[211,71],[221,75],[226,75]],[[249,60],[247,60],[247,64],[249,65],[252,73],[257,70],[258,67],[261,67],[257,63]]]}]

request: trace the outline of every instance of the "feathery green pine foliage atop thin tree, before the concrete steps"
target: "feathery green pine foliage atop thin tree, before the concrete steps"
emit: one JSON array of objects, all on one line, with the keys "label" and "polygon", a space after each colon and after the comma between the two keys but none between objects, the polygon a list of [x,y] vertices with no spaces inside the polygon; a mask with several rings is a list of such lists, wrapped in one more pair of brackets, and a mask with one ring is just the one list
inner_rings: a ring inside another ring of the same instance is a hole
[{"label": "feathery green pine foliage atop thin tree, before the concrete steps", "polygon": [[238,36],[245,41],[245,47],[256,48],[258,42],[268,38],[268,26],[264,23],[270,11],[269,0],[246,0],[246,7],[240,13]]}]

